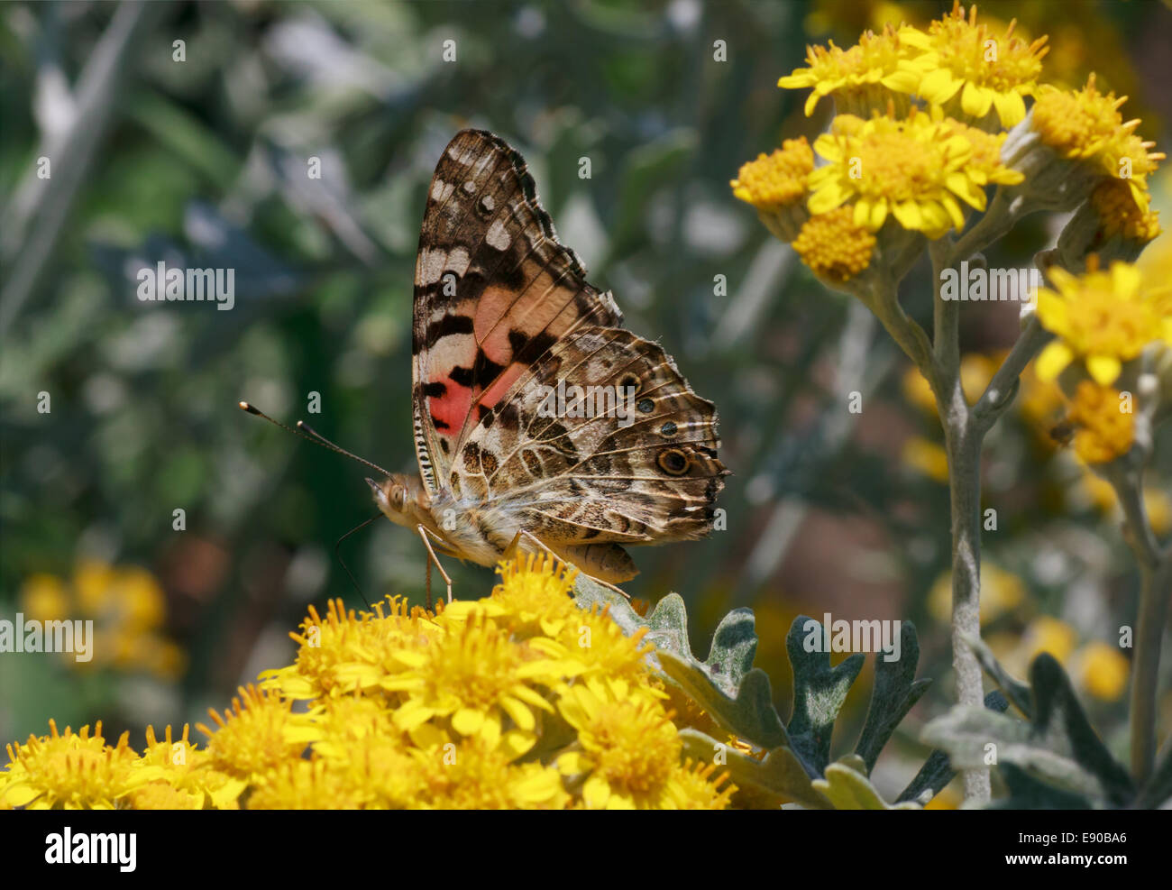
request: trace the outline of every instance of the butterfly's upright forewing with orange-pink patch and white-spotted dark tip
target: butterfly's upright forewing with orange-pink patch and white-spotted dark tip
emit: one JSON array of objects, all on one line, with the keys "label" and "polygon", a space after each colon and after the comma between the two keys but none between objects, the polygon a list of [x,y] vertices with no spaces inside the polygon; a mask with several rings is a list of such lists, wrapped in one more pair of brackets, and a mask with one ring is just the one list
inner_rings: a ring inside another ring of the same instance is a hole
[{"label": "butterfly's upright forewing with orange-pink patch and white-spotted dark tip", "polygon": [[582,327],[622,324],[585,274],[520,155],[490,133],[456,134],[428,190],[415,266],[415,444],[432,494],[533,361]]}]

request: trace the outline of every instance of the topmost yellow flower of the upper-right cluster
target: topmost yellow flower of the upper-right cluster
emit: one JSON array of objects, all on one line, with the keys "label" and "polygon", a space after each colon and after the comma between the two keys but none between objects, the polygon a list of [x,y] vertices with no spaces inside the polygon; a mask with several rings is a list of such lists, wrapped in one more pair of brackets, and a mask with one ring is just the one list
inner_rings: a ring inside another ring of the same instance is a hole
[{"label": "topmost yellow flower of the upper-right cluster", "polygon": [[1026,116],[1023,96],[1033,95],[1042,73],[1047,39],[1031,43],[1014,36],[1016,21],[1003,35],[976,22],[976,5],[968,18],[959,0],[950,14],[933,21],[928,33],[911,27],[899,36],[922,55],[904,63],[917,76],[917,93],[928,102],[943,106],[960,95],[960,107],[969,117],[981,120],[990,108],[997,111],[1003,128]]}]

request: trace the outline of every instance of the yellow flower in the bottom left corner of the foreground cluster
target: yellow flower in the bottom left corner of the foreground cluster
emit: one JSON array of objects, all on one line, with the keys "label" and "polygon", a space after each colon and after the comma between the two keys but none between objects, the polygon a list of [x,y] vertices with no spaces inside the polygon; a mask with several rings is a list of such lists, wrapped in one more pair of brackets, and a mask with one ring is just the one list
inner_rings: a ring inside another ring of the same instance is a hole
[{"label": "yellow flower in the bottom left corner of the foreground cluster", "polygon": [[114,809],[138,786],[156,777],[157,770],[135,769],[138,755],[123,733],[109,747],[102,723],[89,734],[49,720],[49,735],[30,735],[25,745],[9,745],[8,766],[0,773],[0,801],[28,809]]}]

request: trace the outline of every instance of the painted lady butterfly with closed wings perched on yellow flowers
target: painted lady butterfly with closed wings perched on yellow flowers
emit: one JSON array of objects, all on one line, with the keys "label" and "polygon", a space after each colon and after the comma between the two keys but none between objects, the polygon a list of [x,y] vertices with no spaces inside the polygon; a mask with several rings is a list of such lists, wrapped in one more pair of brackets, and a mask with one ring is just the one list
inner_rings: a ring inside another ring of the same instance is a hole
[{"label": "painted lady butterfly with closed wings perched on yellow flowers", "polygon": [[423,539],[449,600],[437,551],[491,566],[544,550],[613,585],[638,573],[625,546],[709,534],[729,474],[715,406],[622,327],[491,133],[462,130],[436,164],[411,329],[420,473],[367,482]]}]

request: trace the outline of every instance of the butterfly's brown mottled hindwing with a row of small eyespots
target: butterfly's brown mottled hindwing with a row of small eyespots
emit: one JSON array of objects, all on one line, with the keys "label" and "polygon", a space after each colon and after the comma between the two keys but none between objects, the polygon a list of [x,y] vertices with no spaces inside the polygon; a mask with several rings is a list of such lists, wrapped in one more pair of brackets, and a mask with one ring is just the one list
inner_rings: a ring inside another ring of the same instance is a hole
[{"label": "butterfly's brown mottled hindwing with a row of small eyespots", "polygon": [[[559,381],[593,392],[594,409],[548,416]],[[602,387],[632,392],[629,413],[599,410],[613,406],[598,401]],[[710,531],[728,475],[718,447],[715,406],[659,345],[590,327],[554,344],[482,419],[451,483],[489,504],[490,524],[519,525],[556,550],[693,539]]]}]

